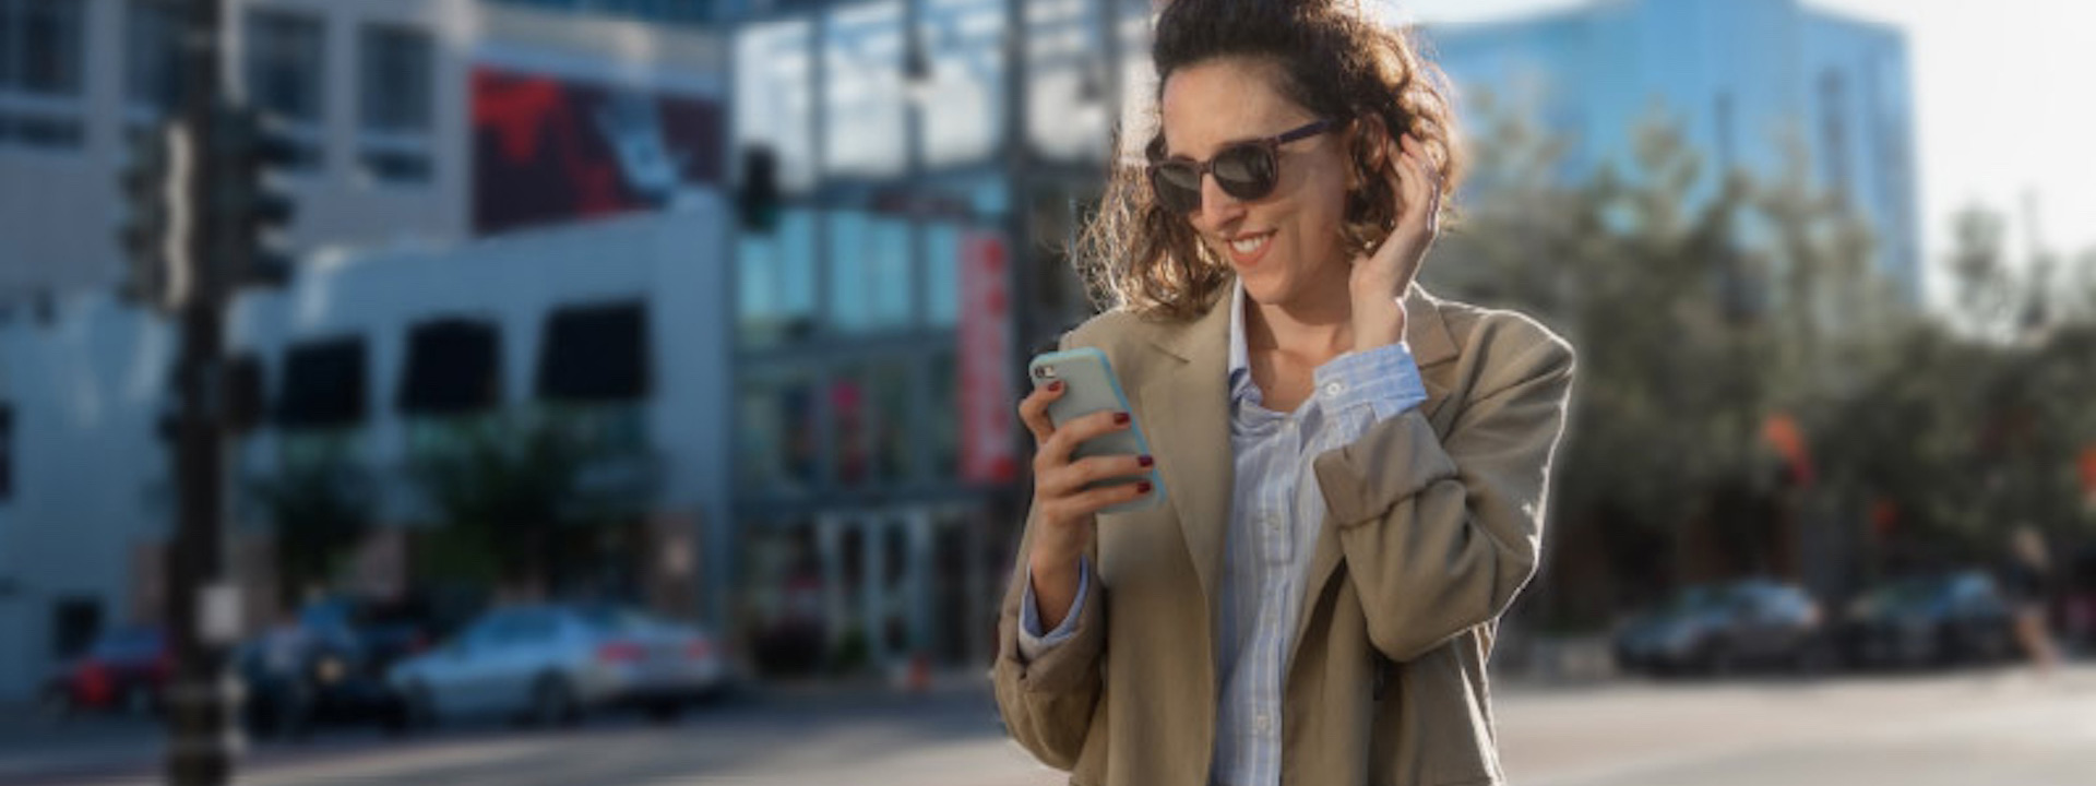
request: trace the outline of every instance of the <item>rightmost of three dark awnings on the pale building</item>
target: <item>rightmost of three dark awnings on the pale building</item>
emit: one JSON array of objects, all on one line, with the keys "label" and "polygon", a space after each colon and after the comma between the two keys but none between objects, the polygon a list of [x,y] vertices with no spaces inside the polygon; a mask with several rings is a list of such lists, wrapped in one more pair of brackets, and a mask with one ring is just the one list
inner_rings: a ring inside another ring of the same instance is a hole
[{"label": "rightmost of three dark awnings on the pale building", "polygon": [[648,308],[641,302],[570,306],[545,321],[539,398],[637,400],[650,390]]}]

